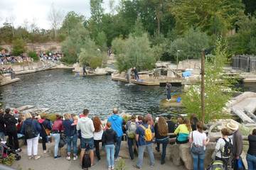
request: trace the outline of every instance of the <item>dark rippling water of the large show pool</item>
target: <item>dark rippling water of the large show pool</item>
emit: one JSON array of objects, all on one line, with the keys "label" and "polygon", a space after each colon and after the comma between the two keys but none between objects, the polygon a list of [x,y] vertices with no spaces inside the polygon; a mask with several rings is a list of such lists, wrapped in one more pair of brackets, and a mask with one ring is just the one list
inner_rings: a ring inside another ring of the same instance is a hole
[{"label": "dark rippling water of the large show pool", "polygon": [[[126,86],[110,76],[75,77],[70,70],[48,70],[18,76],[21,81],[0,87],[0,101],[17,107],[33,105],[50,108],[51,113],[81,113],[89,108],[92,115],[112,113],[112,108],[131,114],[166,115],[183,113],[182,108],[161,108],[166,98],[164,87]],[[174,87],[181,91],[181,87]]]}]

